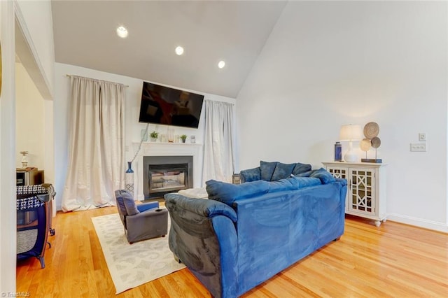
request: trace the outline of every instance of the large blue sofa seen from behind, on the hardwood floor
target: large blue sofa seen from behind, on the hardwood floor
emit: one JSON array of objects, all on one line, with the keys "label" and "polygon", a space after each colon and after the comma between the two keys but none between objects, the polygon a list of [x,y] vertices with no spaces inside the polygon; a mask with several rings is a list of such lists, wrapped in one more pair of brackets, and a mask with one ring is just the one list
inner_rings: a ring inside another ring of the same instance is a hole
[{"label": "large blue sofa seen from behind, on the hardwood floor", "polygon": [[209,180],[209,199],[166,194],[169,248],[214,297],[244,294],[344,233],[346,180],[309,169]]}]

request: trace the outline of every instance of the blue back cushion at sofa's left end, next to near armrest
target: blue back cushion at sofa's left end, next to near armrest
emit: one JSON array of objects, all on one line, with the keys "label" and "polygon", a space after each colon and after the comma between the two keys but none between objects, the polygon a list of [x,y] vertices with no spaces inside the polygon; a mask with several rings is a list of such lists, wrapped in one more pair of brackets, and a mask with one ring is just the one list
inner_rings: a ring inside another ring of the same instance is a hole
[{"label": "blue back cushion at sofa's left end, next to near armrest", "polygon": [[269,190],[269,183],[263,180],[242,184],[208,180],[205,185],[209,199],[221,201],[229,206],[232,206],[234,201],[265,194]]}]

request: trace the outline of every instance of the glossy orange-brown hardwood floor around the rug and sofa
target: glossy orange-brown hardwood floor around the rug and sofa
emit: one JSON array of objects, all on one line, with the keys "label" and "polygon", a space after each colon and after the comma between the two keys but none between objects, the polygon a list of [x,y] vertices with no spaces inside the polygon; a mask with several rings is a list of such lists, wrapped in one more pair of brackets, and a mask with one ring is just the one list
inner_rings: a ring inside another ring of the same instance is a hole
[{"label": "glossy orange-brown hardwood floor around the rug and sofa", "polygon": [[[120,295],[94,231],[116,207],[57,213],[45,252],[18,263],[17,290],[31,297],[211,297],[188,269]],[[345,233],[242,297],[448,297],[448,234],[347,216]]]}]

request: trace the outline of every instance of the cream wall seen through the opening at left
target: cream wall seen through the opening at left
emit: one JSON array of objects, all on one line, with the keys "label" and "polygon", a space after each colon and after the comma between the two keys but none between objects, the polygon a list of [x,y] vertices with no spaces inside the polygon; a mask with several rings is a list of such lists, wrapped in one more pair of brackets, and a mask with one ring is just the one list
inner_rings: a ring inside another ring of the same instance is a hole
[{"label": "cream wall seen through the opening at left", "polygon": [[[28,151],[28,166],[45,169],[45,106],[41,94],[21,63],[15,63],[15,166],[20,151]],[[48,146],[51,147],[51,146]]]}]

